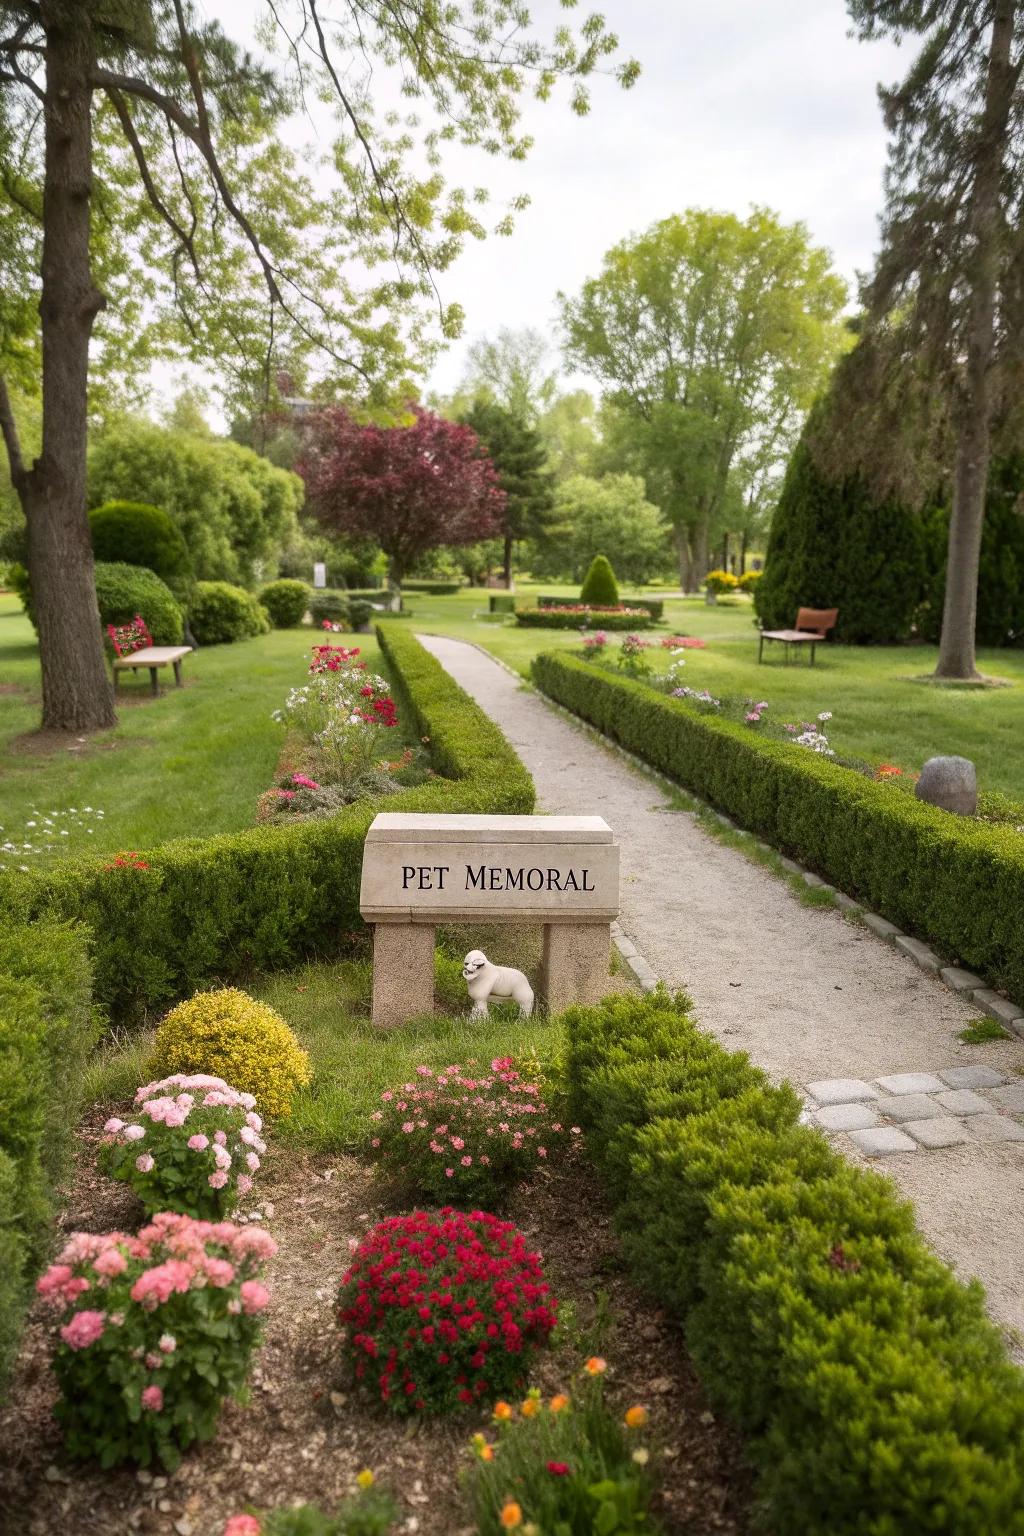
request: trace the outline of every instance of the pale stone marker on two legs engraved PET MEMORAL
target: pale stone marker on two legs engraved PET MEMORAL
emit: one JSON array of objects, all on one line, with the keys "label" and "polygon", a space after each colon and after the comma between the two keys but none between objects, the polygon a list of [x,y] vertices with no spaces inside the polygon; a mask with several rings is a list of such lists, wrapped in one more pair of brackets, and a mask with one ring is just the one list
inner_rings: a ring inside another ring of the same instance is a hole
[{"label": "pale stone marker on two legs engraved PET MEMORAL", "polygon": [[373,923],[373,1023],[433,1009],[438,923],[542,923],[539,994],[554,1012],[608,991],[619,845],[599,816],[384,811],[362,849]]}]

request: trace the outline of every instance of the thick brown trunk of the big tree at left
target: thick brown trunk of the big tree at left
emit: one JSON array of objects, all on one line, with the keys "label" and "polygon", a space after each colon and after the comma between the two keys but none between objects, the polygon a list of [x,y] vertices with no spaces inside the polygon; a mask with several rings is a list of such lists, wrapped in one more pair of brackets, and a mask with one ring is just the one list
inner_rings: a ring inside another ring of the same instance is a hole
[{"label": "thick brown trunk of the big tree at left", "polygon": [[103,295],[89,264],[92,18],[41,0],[46,28],[43,189],[43,450],[26,475],[29,574],[43,664],[43,725],[114,725],[86,518],[89,336]]}]

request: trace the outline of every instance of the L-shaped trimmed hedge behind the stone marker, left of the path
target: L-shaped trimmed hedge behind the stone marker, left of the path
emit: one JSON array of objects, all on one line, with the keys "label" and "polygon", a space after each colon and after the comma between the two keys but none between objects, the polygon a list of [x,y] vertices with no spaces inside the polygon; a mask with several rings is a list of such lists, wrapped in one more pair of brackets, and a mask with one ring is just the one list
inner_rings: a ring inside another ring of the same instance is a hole
[{"label": "L-shaped trimmed hedge behind the stone marker, left of the path", "polygon": [[[388,811],[531,811],[533,780],[497,727],[401,625],[378,637],[401,707],[448,776],[391,796]],[[336,951],[362,926],[362,842],[375,809],[356,802],[330,820],[161,843],[146,849],[144,869],[78,859],[8,872],[0,922],[88,923],[97,1000],[115,1020],[138,1021],[212,982]]]}]

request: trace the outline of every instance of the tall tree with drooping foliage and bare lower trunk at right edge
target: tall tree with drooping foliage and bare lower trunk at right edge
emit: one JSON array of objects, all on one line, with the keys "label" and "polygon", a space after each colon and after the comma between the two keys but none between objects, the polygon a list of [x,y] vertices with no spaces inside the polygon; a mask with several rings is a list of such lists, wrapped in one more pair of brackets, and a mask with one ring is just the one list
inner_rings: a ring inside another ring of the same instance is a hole
[{"label": "tall tree with drooping foliage and bare lower trunk at right edge", "polygon": [[881,92],[892,134],[869,324],[947,396],[956,438],[936,677],[976,677],[978,562],[993,424],[1019,398],[1024,8],[1019,0],[847,0],[860,35],[923,41]]}]

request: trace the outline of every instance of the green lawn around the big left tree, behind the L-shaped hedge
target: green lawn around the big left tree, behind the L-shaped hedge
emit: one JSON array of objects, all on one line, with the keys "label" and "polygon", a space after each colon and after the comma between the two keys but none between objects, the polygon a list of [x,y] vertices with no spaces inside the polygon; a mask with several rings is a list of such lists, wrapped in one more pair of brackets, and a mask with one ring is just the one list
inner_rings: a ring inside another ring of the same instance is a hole
[{"label": "green lawn around the big left tree, behind the L-shaped hedge", "polygon": [[[25,822],[92,806],[101,822],[72,826],[71,852],[150,848],[170,837],[207,837],[252,826],[284,740],[270,719],[306,679],[312,630],[272,630],[255,641],[187,656],[186,687],[170,668],[154,699],[149,673],[121,679],[118,725],[84,742],[32,739],[40,719],[35,633],[18,601],[0,596],[0,842],[32,840]],[[359,636],[379,667],[373,636]],[[38,856],[40,860],[45,856]]]}]

